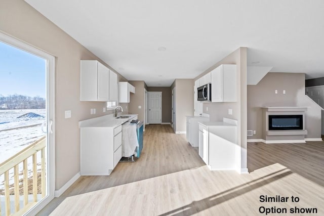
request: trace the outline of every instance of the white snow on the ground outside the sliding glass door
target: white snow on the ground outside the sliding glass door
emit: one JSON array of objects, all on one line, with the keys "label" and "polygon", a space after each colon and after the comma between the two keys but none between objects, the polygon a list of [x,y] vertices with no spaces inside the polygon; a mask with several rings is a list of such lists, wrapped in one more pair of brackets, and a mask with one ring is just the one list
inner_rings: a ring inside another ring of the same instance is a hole
[{"label": "white snow on the ground outside the sliding glass door", "polygon": [[[41,117],[17,118],[30,112]],[[0,110],[0,163],[45,135],[42,132],[42,123],[46,121],[45,116],[46,109]],[[40,158],[38,155],[40,154],[37,154],[37,163]],[[31,159],[28,159],[28,170],[32,170]],[[13,169],[10,170],[10,184],[13,183],[12,176]],[[1,175],[0,189],[4,188],[3,182],[4,175]]]}]

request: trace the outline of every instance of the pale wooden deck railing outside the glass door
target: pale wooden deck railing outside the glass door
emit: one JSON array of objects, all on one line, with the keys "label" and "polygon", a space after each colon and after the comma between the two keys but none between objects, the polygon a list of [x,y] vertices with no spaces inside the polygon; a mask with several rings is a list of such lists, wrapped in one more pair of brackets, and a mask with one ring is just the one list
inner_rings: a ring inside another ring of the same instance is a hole
[{"label": "pale wooden deck railing outside the glass door", "polygon": [[[11,158],[0,164],[0,176],[4,175],[4,194],[2,197],[5,200],[0,200],[0,203],[5,203],[5,209],[0,205],[0,215],[21,215],[28,211],[37,203],[38,187],[41,187],[42,198],[46,196],[46,137],[42,137],[27,148],[18,152]],[[37,152],[41,152],[41,182],[37,184]],[[32,168],[28,170],[28,158],[32,158]],[[20,165],[20,166],[19,166]],[[10,170],[13,169],[11,174]],[[30,170],[32,169],[32,170]],[[28,171],[32,172],[31,178],[28,178]],[[22,177],[21,177],[22,176]],[[10,178],[14,180],[13,191],[10,190]],[[29,183],[28,183],[29,180]],[[32,185],[31,185],[32,180]],[[22,187],[19,182],[23,182]],[[32,201],[28,200],[28,188],[32,186]],[[22,191],[21,191],[22,189]],[[11,194],[14,194],[13,196]],[[23,196],[23,206],[20,205],[20,194]],[[13,198],[14,197],[14,198]],[[11,200],[11,198],[13,200]],[[11,202],[14,202],[14,209],[11,207]],[[4,213],[3,213],[4,212]]]}]

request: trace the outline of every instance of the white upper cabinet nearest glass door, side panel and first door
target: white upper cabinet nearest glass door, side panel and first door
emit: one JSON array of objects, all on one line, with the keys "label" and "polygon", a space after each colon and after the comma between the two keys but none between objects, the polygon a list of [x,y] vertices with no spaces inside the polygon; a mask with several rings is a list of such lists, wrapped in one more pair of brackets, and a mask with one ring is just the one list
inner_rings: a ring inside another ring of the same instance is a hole
[{"label": "white upper cabinet nearest glass door, side panel and first door", "polygon": [[109,100],[109,69],[96,60],[80,61],[80,101]]}]

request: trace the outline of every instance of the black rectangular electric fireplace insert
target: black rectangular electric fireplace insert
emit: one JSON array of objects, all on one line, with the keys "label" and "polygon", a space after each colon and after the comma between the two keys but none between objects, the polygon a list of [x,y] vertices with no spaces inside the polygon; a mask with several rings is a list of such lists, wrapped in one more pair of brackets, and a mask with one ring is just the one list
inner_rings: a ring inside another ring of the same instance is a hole
[{"label": "black rectangular electric fireplace insert", "polygon": [[269,115],[269,131],[302,129],[303,115]]}]

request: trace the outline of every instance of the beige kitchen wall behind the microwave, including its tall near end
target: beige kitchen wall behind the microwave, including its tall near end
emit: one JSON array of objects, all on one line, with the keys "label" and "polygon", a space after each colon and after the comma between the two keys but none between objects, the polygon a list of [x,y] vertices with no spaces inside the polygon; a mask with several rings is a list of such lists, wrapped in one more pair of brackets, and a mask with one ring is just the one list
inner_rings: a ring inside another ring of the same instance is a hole
[{"label": "beige kitchen wall behind the microwave, including its tall near end", "polygon": [[[241,169],[247,168],[247,48],[241,47],[227,57],[217,62],[215,65],[201,73],[194,80],[209,73],[221,64],[236,64],[237,65],[237,82],[236,94],[237,102],[223,103],[204,103],[204,113],[210,115],[210,121],[222,121],[223,117],[236,119],[237,125],[237,145],[240,149],[240,160],[237,161],[237,166]],[[213,87],[212,87],[213,88]],[[208,110],[207,111],[207,107]],[[228,115],[228,109],[232,109],[233,114]]]}]

